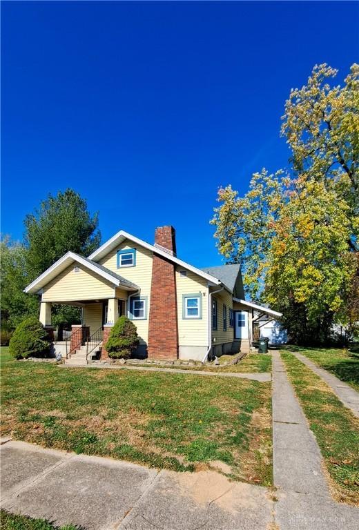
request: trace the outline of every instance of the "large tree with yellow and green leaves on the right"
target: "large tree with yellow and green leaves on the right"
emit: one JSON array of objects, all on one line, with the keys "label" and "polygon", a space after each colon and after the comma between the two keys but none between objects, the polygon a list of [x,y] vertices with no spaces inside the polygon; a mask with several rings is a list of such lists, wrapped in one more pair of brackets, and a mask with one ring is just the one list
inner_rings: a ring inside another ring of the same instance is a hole
[{"label": "large tree with yellow and green leaves on the right", "polygon": [[329,82],[336,74],[315,66],[291,90],[282,117],[289,169],[256,173],[244,197],[220,188],[211,221],[253,300],[282,311],[302,343],[327,340],[333,322],[359,320],[359,66],[342,87]]}]

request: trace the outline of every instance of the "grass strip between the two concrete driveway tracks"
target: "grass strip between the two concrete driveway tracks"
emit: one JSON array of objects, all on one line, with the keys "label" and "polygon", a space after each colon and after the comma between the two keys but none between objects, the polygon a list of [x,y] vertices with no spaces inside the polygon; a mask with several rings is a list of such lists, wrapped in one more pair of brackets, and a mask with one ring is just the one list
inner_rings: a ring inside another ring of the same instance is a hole
[{"label": "grass strip between the two concrete driveway tracks", "polygon": [[295,355],[281,353],[311,431],[316,436],[336,500],[359,505],[359,421],[326,383]]}]

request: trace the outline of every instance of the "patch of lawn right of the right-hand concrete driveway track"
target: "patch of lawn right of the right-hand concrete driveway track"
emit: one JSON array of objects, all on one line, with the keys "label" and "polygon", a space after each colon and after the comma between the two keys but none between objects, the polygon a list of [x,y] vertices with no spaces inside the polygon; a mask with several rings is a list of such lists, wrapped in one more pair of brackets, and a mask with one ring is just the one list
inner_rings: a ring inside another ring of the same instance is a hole
[{"label": "patch of lawn right of the right-hand concrete driveway track", "polygon": [[289,351],[298,351],[312,360],[320,368],[330,371],[341,381],[350,384],[359,392],[359,353],[340,348],[304,348],[287,346]]}]

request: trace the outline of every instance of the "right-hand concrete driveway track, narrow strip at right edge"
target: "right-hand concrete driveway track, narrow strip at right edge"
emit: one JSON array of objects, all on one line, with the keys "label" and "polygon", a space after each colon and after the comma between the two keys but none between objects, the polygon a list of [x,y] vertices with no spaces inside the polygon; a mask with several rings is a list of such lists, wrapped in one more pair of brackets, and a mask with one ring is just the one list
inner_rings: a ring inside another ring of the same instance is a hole
[{"label": "right-hand concrete driveway track, narrow strip at right edge", "polygon": [[331,390],[336,394],[338,399],[340,399],[342,404],[347,406],[347,408],[350,409],[357,418],[359,418],[359,393],[356,390],[351,388],[349,384],[340,381],[338,377],[332,373],[329,373],[327,370],[319,368],[319,366],[317,366],[314,362],[309,360],[301,353],[297,353],[296,351],[291,351],[291,353],[293,353],[298,360],[300,360],[314,373],[316,373],[316,375],[319,375],[319,377],[321,377],[322,380],[324,380],[327,385],[330,386]]}]

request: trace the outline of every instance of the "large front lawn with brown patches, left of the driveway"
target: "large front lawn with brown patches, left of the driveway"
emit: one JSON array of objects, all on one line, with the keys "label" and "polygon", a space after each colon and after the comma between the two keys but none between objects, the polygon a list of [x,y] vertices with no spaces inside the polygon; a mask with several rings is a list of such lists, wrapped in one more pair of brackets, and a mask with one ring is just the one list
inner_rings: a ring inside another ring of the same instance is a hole
[{"label": "large front lawn with brown patches, left of the driveway", "polygon": [[270,383],[66,369],[6,353],[3,435],[177,471],[206,469],[217,460],[235,480],[272,483]]}]

